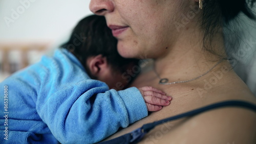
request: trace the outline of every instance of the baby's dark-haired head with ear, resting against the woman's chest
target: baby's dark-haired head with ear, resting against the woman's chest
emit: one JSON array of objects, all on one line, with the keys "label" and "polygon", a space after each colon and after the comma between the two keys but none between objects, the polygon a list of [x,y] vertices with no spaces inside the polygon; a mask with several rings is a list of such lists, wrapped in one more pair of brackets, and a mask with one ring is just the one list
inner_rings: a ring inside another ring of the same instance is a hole
[{"label": "baby's dark-haired head with ear, resting against the woman's chest", "polygon": [[80,20],[69,41],[61,47],[76,56],[92,79],[103,81],[110,88],[121,90],[138,74],[138,68],[132,70],[138,60],[118,54],[117,39],[103,16],[91,15]]}]

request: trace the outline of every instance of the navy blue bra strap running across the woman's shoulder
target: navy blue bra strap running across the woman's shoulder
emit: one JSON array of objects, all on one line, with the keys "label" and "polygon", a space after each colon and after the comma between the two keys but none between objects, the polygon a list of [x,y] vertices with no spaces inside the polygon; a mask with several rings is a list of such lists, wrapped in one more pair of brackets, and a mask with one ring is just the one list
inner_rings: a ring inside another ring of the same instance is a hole
[{"label": "navy blue bra strap running across the woman's shoulder", "polygon": [[117,137],[115,139],[111,139],[108,141],[103,141],[100,142],[101,144],[105,144],[105,143],[137,143],[141,140],[141,138],[148,133],[149,131],[151,131],[155,126],[157,125],[161,125],[163,123],[166,122],[170,122],[170,121],[174,121],[175,119],[179,119],[182,117],[186,117],[186,116],[193,116],[208,110],[212,110],[212,109],[216,109],[216,108],[221,108],[221,107],[243,107],[243,108],[247,108],[250,110],[253,110],[254,112],[256,112],[256,106],[254,104],[248,103],[248,102],[243,102],[243,101],[226,101],[226,102],[220,102],[220,103],[216,103],[216,104],[212,104],[209,106],[205,106],[196,110],[192,110],[189,112],[185,112],[176,116],[172,116],[169,118],[165,118],[162,119],[160,121],[157,122],[153,122],[153,123],[149,123],[149,124],[145,124],[143,125],[141,128],[138,128],[134,131],[132,131],[131,133],[127,133],[125,135],[122,135],[120,137]]}]

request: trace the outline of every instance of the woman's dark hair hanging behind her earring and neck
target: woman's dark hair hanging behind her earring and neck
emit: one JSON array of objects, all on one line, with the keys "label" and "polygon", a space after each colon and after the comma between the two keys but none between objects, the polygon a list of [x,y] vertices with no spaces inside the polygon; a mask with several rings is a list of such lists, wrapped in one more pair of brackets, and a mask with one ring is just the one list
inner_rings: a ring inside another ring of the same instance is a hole
[{"label": "woman's dark hair hanging behind her earring and neck", "polygon": [[[238,30],[241,24],[239,15],[244,14],[250,19],[255,20],[255,12],[251,10],[255,1],[256,0],[204,0],[201,23],[202,28],[205,30],[203,50],[216,54],[220,56],[220,58],[230,59],[231,57],[228,53],[235,53],[239,48],[239,41],[241,40],[242,33]],[[236,40],[233,39],[233,41],[237,43],[226,49],[227,56],[223,53],[216,52],[216,50],[212,48],[212,42],[216,40],[215,34],[217,34],[221,27],[228,32],[228,36],[224,37],[225,40],[240,38]]]}]

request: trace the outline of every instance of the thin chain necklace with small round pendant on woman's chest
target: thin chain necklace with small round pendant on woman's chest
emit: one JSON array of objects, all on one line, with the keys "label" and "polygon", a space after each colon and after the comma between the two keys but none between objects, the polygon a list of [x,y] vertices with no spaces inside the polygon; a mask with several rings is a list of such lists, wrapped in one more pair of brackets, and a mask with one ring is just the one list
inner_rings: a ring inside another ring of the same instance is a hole
[{"label": "thin chain necklace with small round pendant on woman's chest", "polygon": [[190,81],[194,81],[194,80],[196,80],[196,79],[199,79],[199,78],[203,77],[204,75],[208,74],[212,69],[214,69],[214,68],[215,68],[218,64],[220,64],[222,61],[223,61],[223,60],[220,60],[220,61],[219,61],[218,63],[216,63],[213,67],[211,67],[209,70],[207,70],[203,75],[200,75],[200,76],[198,76],[198,77],[196,77],[196,78],[193,78],[193,79],[190,79],[190,80],[186,80],[186,81],[176,81],[176,82],[170,82],[170,83],[168,83],[169,80],[168,80],[167,78],[161,78],[161,77],[158,75],[158,73],[157,73],[157,71],[156,71],[156,68],[155,68],[155,65],[154,65],[154,71],[155,71],[157,77],[160,79],[159,84],[162,84],[162,85],[171,85],[171,84],[177,84],[177,83],[186,83],[186,82],[190,82]]}]

